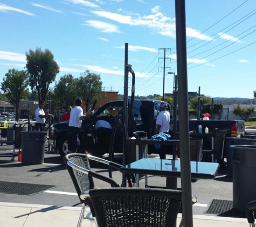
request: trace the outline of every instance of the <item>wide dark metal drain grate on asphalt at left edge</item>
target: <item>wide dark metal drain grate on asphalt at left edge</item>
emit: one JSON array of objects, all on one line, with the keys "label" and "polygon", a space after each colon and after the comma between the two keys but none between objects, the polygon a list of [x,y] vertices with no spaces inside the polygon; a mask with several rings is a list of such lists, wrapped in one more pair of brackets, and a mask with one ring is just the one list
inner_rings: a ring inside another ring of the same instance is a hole
[{"label": "wide dark metal drain grate on asphalt at left edge", "polygon": [[0,193],[7,194],[32,195],[53,187],[56,186],[0,181]]}]

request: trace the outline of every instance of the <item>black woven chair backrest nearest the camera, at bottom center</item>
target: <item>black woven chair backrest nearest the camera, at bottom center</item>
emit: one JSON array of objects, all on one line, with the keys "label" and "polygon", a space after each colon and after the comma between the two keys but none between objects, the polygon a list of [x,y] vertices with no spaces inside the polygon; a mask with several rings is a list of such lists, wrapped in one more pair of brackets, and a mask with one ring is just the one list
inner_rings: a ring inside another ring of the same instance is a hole
[{"label": "black woven chair backrest nearest the camera, at bottom center", "polygon": [[181,190],[96,188],[89,191],[98,227],[176,226]]}]

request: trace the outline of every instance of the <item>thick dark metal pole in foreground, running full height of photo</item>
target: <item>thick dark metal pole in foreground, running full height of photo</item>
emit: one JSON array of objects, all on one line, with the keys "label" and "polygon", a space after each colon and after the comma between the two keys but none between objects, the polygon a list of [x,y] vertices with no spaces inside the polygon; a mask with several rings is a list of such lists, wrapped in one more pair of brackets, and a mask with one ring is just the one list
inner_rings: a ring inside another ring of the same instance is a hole
[{"label": "thick dark metal pole in foreground, running full height of photo", "polygon": [[175,0],[183,226],[193,226],[185,0]]}]

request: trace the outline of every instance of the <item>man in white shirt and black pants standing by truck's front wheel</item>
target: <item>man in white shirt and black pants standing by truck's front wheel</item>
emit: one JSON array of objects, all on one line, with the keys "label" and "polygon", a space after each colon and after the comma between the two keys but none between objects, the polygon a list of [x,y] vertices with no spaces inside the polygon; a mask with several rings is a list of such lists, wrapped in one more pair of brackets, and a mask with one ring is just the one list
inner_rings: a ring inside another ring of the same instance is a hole
[{"label": "man in white shirt and black pants standing by truck's front wheel", "polygon": [[75,100],[75,107],[70,112],[70,122],[68,123],[68,153],[74,153],[77,151],[77,138],[79,129],[82,126],[82,119],[88,118],[92,115],[93,111],[88,111],[87,113],[83,113],[81,108],[82,100],[77,98]]}]

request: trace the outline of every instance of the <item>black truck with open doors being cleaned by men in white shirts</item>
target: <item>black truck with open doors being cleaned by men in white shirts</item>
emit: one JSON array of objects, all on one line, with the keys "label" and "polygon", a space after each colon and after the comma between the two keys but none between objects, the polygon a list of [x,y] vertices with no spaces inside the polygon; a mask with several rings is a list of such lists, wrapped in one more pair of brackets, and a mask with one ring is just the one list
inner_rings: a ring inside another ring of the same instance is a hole
[{"label": "black truck with open doors being cleaned by men in white shirts", "polygon": [[[134,131],[145,131],[148,138],[153,136],[158,115],[156,105],[160,102],[159,100],[134,100],[132,111]],[[168,104],[168,111],[170,110],[170,105]],[[95,129],[95,125],[98,120],[103,120],[108,122],[113,128],[118,115],[123,115],[123,101],[121,100],[106,103],[99,110],[95,111],[89,119],[82,120],[79,132],[80,146],[78,146],[77,152],[84,153],[88,151],[88,153],[98,157],[108,153],[112,129],[107,129],[106,127]],[[51,128],[52,137],[50,138],[50,145],[58,150],[61,157],[68,151],[67,128],[68,122],[54,124]],[[114,153],[122,152],[122,134],[122,127],[117,127],[113,146]],[[150,153],[157,153],[154,149],[156,150],[154,146],[148,147]]]}]

